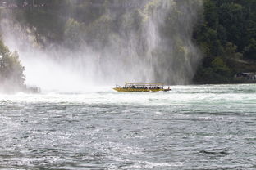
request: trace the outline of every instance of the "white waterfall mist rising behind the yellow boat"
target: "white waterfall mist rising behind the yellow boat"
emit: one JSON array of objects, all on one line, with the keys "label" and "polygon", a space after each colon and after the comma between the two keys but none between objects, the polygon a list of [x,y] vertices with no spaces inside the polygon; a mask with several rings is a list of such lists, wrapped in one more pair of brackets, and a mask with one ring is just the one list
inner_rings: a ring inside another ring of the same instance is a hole
[{"label": "white waterfall mist rising behind the yellow boat", "polygon": [[[58,30],[42,34],[43,25],[21,23],[15,12],[2,18],[2,38],[20,54],[26,83],[46,90],[125,81],[190,83],[201,58],[192,42],[201,0],[82,1],[85,9],[75,11],[78,2],[70,2],[57,11],[59,41],[53,38]],[[89,9],[95,18],[78,12]]]}]

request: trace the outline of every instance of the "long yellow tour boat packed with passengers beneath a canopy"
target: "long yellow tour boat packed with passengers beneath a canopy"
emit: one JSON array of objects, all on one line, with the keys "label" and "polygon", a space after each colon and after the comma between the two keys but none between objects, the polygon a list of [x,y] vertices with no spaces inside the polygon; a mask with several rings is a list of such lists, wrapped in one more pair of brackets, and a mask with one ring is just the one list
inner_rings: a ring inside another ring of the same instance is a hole
[{"label": "long yellow tour boat packed with passengers beneath a canopy", "polygon": [[167,92],[171,91],[171,88],[164,87],[164,83],[127,83],[125,86],[116,86],[113,88],[117,92]]}]

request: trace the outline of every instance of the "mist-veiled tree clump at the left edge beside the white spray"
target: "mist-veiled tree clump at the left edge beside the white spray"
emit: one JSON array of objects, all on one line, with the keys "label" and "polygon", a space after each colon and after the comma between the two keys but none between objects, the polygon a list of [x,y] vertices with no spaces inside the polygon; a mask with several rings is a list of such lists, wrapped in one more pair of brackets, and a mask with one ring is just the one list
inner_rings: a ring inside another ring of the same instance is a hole
[{"label": "mist-veiled tree clump at the left edge beside the white spray", "polygon": [[0,41],[0,91],[16,92],[24,88],[24,67],[17,52],[10,52]]}]

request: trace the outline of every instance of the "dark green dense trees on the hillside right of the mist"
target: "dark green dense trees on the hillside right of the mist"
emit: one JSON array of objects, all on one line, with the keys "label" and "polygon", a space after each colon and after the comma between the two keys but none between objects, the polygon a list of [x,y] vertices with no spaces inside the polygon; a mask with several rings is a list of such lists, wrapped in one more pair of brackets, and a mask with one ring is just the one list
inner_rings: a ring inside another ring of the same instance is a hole
[{"label": "dark green dense trees on the hillside right of the mist", "polygon": [[256,1],[204,0],[194,39],[203,52],[197,83],[234,83],[234,74],[256,72]]}]

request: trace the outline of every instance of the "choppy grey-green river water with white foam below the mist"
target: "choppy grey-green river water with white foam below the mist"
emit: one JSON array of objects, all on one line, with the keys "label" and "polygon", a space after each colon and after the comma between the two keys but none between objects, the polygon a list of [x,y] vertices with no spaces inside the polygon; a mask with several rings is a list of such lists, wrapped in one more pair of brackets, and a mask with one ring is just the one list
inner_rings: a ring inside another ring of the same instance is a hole
[{"label": "choppy grey-green river water with white foam below the mist", "polygon": [[256,169],[254,84],[0,95],[0,119],[0,169]]}]

